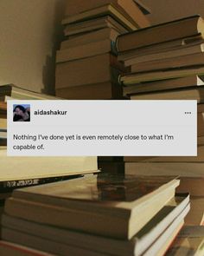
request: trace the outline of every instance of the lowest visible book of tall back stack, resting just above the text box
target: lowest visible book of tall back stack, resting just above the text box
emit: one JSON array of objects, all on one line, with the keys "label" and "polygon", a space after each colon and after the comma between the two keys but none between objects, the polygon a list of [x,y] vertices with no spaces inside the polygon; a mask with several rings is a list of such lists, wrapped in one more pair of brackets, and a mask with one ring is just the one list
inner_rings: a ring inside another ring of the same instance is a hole
[{"label": "lowest visible book of tall back stack, resting just above the text box", "polygon": [[122,94],[122,86],[114,82],[99,82],[56,89],[56,95],[67,100],[119,100],[122,98]]}]

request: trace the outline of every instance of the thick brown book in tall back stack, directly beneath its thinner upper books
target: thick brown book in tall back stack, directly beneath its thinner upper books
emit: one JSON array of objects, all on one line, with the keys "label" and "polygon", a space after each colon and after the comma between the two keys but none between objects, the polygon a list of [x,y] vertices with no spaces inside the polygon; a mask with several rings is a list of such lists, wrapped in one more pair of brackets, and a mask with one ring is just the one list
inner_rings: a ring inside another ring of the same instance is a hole
[{"label": "thick brown book in tall back stack, directly beneath its thinner upper books", "polygon": [[110,39],[112,42],[116,41],[118,31],[111,28],[101,30],[94,30],[89,33],[82,33],[78,36],[69,36],[68,40],[61,42],[61,50],[70,49],[87,43],[94,43]]}]

